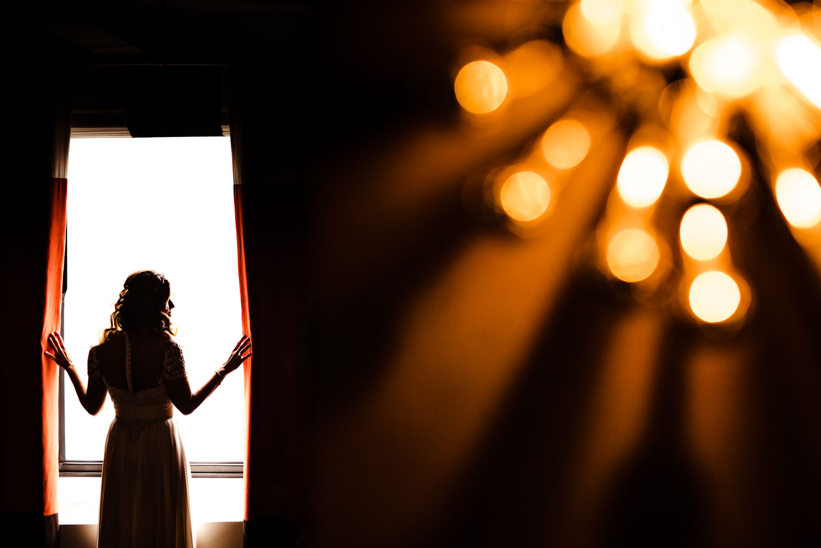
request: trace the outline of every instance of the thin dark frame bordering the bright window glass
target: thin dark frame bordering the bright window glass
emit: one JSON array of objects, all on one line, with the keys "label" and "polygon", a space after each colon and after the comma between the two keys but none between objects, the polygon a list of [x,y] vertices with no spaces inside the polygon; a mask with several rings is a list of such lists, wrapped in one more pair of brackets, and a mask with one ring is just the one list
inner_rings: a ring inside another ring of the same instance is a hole
[{"label": "thin dark frame bordering the bright window glass", "polygon": [[[131,137],[131,135],[121,135],[111,128],[96,130],[71,130],[72,137]],[[230,136],[227,126],[222,126],[223,135]],[[113,132],[117,135],[112,135]],[[79,135],[78,135],[79,134]],[[102,135],[100,135],[102,134]],[[62,290],[60,295],[60,335],[65,335],[66,327],[66,291],[68,290],[68,218],[66,220],[66,245],[63,253],[62,264]],[[58,421],[59,421],[59,443],[58,443],[58,472],[60,477],[101,477],[103,475],[102,460],[69,460],[66,458],[66,372],[60,368],[58,396]],[[191,477],[233,477],[239,478],[245,475],[245,464],[241,462],[204,462],[189,461],[188,463]]]}]

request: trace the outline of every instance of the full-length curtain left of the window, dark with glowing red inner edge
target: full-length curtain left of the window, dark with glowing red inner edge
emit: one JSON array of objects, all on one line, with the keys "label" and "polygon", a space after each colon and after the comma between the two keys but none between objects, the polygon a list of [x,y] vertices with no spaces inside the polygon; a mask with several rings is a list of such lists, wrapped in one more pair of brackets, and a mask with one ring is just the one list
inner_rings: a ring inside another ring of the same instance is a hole
[{"label": "full-length curtain left of the window, dark with glowing red inner edge", "polygon": [[71,110],[61,66],[9,74],[18,93],[0,199],[2,530],[57,546],[58,368],[43,351],[60,327]]}]

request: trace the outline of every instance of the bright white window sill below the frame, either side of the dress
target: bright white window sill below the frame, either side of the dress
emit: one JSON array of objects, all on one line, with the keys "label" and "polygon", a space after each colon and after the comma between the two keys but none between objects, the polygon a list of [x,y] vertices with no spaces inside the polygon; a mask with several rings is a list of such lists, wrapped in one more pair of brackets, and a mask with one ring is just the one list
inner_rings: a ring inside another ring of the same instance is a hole
[{"label": "bright white window sill below the frame, either side of the dress", "polygon": [[[60,525],[96,525],[99,514],[100,477],[60,477],[57,511]],[[201,524],[242,522],[244,503],[241,477],[192,477],[189,484],[191,517]]]}]

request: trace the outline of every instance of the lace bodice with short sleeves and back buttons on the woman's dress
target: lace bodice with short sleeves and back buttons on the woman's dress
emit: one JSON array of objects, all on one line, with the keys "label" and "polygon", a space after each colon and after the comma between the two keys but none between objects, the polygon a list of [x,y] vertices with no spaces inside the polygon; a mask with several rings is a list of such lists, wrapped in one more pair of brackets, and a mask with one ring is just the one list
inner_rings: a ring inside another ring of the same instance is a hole
[{"label": "lace bodice with short sleeves and back buttons on the woman's dress", "polygon": [[[177,342],[174,340],[167,340],[167,349],[163,354],[162,374],[156,378],[153,387],[135,391],[134,386],[132,386],[131,380],[131,340],[129,336],[127,336],[127,334],[125,335],[125,340],[126,352],[124,358],[127,390],[123,390],[122,387],[114,386],[112,382],[110,382],[107,379],[106,375],[103,374],[104,368],[100,367],[101,364],[98,357],[98,349],[102,345],[92,346],[89,349],[89,377],[100,377],[102,379],[103,383],[108,389],[108,394],[111,395],[111,400],[112,402],[114,402],[115,406],[135,405],[143,407],[160,404],[169,404],[171,400],[168,398],[167,392],[165,390],[164,381],[178,379],[186,376],[186,361],[185,358],[183,358],[182,356],[182,349],[180,345],[177,345]],[[114,367],[122,367],[122,361],[120,363],[114,363],[109,365],[113,365]]]}]

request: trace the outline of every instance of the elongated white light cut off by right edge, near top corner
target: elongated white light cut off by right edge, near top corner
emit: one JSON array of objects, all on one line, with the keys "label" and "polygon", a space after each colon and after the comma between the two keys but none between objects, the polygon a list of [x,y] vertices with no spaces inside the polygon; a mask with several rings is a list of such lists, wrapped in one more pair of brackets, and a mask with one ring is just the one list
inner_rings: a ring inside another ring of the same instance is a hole
[{"label": "elongated white light cut off by right edge, near top corner", "polygon": [[810,103],[821,108],[821,48],[804,34],[787,34],[775,46],[778,68]]}]

